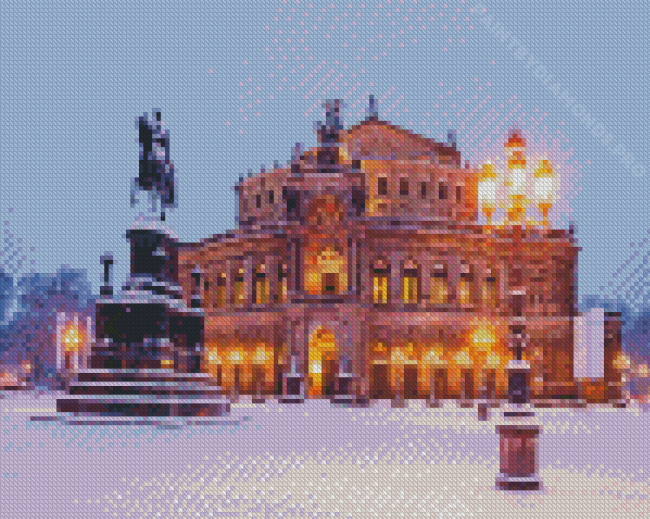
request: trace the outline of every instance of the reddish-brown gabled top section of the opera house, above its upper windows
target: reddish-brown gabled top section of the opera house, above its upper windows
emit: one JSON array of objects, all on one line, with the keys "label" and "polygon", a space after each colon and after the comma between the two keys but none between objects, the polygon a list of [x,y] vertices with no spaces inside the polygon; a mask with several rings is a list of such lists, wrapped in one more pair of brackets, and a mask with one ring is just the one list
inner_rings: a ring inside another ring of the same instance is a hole
[{"label": "reddish-brown gabled top section of the opera house, above its upper windows", "polygon": [[461,166],[454,144],[443,144],[370,117],[341,132],[351,160],[425,160]]}]

